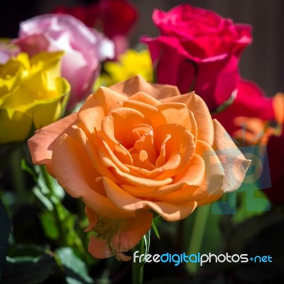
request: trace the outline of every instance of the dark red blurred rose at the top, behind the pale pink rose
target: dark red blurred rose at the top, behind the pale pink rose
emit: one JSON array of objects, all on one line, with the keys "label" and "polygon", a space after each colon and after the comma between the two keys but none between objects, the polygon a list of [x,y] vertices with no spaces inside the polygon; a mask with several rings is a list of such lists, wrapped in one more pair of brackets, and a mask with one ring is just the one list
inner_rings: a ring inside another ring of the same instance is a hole
[{"label": "dark red blurred rose at the top, behind the pale pink rose", "polygon": [[67,13],[80,19],[86,26],[97,28],[114,41],[116,55],[128,48],[128,35],[136,22],[137,11],[124,0],[100,0],[88,6],[74,8],[59,6],[53,13]]}]

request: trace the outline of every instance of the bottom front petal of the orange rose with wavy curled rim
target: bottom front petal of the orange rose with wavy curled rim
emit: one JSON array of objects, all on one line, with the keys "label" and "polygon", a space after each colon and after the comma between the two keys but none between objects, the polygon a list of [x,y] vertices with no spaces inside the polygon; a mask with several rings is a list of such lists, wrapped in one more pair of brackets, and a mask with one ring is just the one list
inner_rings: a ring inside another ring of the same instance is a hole
[{"label": "bottom front petal of the orange rose with wavy curled rim", "polygon": [[121,187],[107,178],[103,178],[104,188],[109,199],[116,204],[117,207],[135,212],[138,209],[153,209],[160,214],[166,221],[178,221],[187,217],[197,206],[196,202],[182,202],[181,204],[170,204],[166,202],[151,202],[141,200],[128,192],[125,192]]}]

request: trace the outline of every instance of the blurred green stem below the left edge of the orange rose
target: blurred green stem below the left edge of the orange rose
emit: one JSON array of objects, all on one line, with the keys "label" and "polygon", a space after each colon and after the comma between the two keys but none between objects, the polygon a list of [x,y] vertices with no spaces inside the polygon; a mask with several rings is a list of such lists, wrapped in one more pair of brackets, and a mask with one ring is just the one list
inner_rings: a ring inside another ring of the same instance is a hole
[{"label": "blurred green stem below the left edge of the orange rose", "polygon": [[[50,177],[50,175],[48,175],[47,171],[45,170],[45,166],[41,165],[40,170],[43,175],[43,179],[45,180],[45,185],[48,187],[48,189],[51,192],[50,196],[56,195],[55,189],[53,187],[53,180]],[[50,198],[50,201],[53,203],[55,219],[58,224],[58,229],[60,231],[60,237],[59,237],[60,244],[67,244],[67,234],[65,232],[65,229],[62,226],[63,220],[60,218],[60,204],[58,202],[54,202],[52,198]]]}]

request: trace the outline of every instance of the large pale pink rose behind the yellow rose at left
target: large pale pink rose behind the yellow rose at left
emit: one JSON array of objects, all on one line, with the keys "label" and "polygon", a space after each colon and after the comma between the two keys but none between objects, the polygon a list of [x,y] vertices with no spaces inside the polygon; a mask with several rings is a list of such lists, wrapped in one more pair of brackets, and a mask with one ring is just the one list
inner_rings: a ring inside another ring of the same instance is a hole
[{"label": "large pale pink rose behind the yellow rose at left", "polygon": [[70,15],[45,14],[23,21],[14,43],[31,56],[65,50],[62,77],[71,84],[69,109],[92,92],[99,62],[114,57],[111,40]]}]

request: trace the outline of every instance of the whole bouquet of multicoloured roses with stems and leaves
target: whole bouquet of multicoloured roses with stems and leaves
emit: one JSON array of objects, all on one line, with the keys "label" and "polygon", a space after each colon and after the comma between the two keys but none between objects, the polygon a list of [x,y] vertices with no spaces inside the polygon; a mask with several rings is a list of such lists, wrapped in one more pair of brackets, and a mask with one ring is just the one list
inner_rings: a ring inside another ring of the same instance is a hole
[{"label": "whole bouquet of multicoloured roses with stems and leaves", "polygon": [[251,26],[182,4],[129,48],[136,16],[58,7],[1,40],[0,279],[283,279],[261,234],[283,235],[284,96],[241,77]]}]

